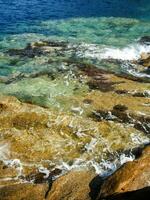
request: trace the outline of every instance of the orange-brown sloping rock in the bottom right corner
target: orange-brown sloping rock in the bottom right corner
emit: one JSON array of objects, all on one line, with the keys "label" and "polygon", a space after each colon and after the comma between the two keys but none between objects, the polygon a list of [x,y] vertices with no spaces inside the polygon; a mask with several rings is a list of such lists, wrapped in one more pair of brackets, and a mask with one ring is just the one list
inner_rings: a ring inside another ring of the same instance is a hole
[{"label": "orange-brown sloping rock in the bottom right corner", "polygon": [[150,146],[139,159],[124,164],[104,181],[98,199],[150,186]]}]

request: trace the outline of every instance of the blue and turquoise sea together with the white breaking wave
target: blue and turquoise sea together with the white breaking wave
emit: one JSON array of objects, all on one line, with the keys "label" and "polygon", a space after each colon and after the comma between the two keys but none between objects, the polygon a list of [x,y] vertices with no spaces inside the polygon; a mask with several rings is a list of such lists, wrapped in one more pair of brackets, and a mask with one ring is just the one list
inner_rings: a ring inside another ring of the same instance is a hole
[{"label": "blue and turquoise sea together with the white breaking wave", "polygon": [[[82,43],[78,55],[94,62],[133,60],[149,51],[137,44],[149,22],[149,0],[0,0],[0,51],[49,39]],[[0,75],[16,71],[7,60],[1,54]]]}]

